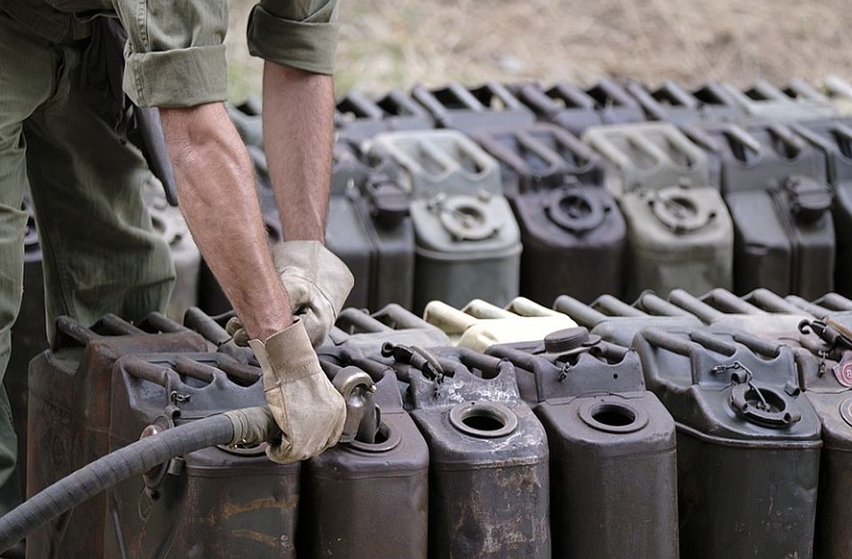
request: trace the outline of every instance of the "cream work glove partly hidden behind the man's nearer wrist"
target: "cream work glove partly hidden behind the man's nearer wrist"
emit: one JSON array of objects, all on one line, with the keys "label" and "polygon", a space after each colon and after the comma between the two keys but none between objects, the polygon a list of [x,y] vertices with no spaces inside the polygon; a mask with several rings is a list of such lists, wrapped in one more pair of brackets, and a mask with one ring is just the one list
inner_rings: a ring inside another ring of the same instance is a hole
[{"label": "cream work glove partly hidden behind the man's nearer wrist", "polygon": [[[293,315],[302,320],[313,347],[319,347],[355,285],[352,272],[317,240],[282,242],[272,248],[272,257]],[[240,319],[231,319],[225,329],[238,345],[248,342]]]}]

